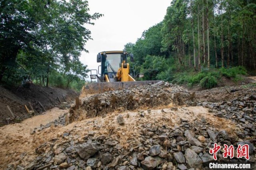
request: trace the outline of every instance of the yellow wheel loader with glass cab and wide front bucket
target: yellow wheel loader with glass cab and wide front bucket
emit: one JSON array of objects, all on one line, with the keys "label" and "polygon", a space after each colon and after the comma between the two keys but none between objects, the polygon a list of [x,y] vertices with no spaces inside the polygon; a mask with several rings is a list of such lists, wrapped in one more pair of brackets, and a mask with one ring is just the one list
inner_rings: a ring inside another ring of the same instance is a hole
[{"label": "yellow wheel loader with glass cab and wide front bucket", "polygon": [[[136,77],[144,77],[144,74],[135,75],[134,72],[130,73],[127,57],[130,57],[130,61],[134,61],[134,55],[126,51],[103,51],[98,53],[97,62],[101,64],[98,66],[98,70],[92,69],[90,74],[91,80],[95,79],[97,83],[91,81],[92,83],[85,85],[82,90],[83,96],[84,94],[101,93],[159,82],[159,80],[135,81]],[[93,72],[94,74],[92,74]]]}]

